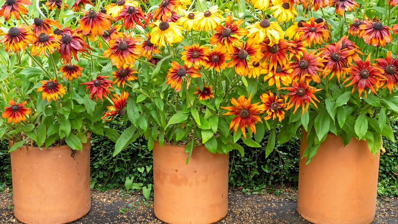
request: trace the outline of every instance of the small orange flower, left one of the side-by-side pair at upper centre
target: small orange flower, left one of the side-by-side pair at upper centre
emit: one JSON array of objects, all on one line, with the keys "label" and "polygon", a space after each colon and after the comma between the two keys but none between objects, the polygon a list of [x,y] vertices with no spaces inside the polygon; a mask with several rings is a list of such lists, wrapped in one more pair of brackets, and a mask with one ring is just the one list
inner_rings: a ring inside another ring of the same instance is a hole
[{"label": "small orange flower, left one of the side-by-side pair at upper centre", "polygon": [[184,46],[184,50],[181,53],[181,60],[184,61],[184,64],[187,67],[195,67],[195,69],[199,69],[199,66],[206,65],[206,61],[209,58],[206,56],[209,53],[209,47],[199,46],[199,44],[194,43],[193,45]]}]

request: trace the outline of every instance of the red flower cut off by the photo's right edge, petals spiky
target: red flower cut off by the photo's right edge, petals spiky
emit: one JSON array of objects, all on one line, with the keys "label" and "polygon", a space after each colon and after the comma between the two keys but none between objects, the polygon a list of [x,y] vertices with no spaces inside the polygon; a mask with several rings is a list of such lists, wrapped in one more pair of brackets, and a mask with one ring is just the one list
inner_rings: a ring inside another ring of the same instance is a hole
[{"label": "red flower cut off by the photo's right edge, petals spiky", "polygon": [[375,59],[377,61],[376,66],[379,69],[382,69],[384,73],[382,75],[386,77],[387,80],[382,81],[382,83],[387,83],[387,88],[391,90],[397,89],[398,84],[398,59],[394,59],[391,57],[391,51],[388,51],[386,58]]}]

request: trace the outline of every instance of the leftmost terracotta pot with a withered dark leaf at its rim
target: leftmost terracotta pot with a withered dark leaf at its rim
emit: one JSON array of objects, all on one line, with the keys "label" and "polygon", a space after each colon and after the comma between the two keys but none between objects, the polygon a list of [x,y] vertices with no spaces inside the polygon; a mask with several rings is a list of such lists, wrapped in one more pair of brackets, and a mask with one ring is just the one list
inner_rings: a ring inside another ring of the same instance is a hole
[{"label": "leftmost terracotta pot with a withered dark leaf at its rim", "polygon": [[10,154],[14,215],[18,220],[64,224],[90,210],[90,138],[74,159],[67,145],[43,150],[23,146]]}]

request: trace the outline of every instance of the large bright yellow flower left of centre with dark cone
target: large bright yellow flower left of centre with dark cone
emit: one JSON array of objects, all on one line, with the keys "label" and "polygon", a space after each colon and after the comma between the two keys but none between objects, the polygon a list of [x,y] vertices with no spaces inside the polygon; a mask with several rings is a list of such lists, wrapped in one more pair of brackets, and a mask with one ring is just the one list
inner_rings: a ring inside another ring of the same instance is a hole
[{"label": "large bright yellow flower left of centre with dark cone", "polygon": [[177,23],[157,21],[152,24],[156,25],[156,27],[154,27],[150,33],[150,41],[158,47],[165,46],[166,42],[178,43],[184,39],[181,32],[184,28],[178,26]]}]

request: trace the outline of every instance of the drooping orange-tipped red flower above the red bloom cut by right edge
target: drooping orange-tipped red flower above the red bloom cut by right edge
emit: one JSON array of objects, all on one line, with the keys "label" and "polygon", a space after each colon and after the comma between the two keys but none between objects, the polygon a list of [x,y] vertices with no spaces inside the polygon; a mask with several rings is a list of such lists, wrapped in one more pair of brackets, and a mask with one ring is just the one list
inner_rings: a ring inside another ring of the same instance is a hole
[{"label": "drooping orange-tipped red flower above the red bloom cut by right edge", "polygon": [[369,45],[384,47],[386,43],[391,43],[392,41],[391,28],[384,26],[380,21],[363,20],[363,24],[359,25],[359,28],[361,29],[359,35]]}]

